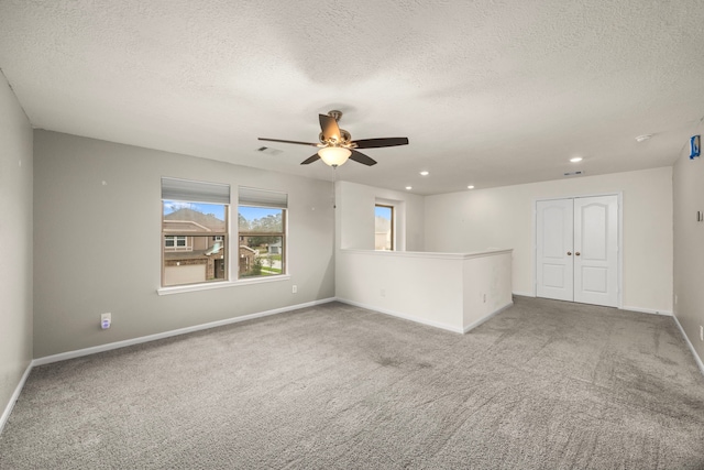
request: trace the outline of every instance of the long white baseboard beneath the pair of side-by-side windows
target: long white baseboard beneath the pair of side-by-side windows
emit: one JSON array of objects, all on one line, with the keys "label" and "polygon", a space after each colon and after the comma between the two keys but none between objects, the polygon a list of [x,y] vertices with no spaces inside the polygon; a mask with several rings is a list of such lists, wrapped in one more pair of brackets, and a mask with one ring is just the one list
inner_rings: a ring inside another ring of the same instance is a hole
[{"label": "long white baseboard beneath the pair of side-by-side windows", "polygon": [[292,305],[288,307],[276,308],[274,310],[260,311],[251,315],[243,315],[241,317],[228,318],[224,320],[211,321],[208,324],[196,325],[187,328],[179,328],[170,331],[158,332],[155,335],[142,336],[140,338],[125,339],[123,341],[109,342],[107,345],[94,346],[91,348],[78,349],[75,351],[62,352],[53,356],[45,356],[44,358],[38,358],[32,361],[32,365],[44,365],[51,364],[52,362],[65,361],[67,359],[80,358],[84,356],[90,356],[98,352],[110,351],[112,349],[124,348],[128,346],[140,345],[143,342],[155,341],[157,339],[169,338],[172,336],[186,335],[194,331],[200,331],[209,328],[217,328],[224,325],[237,324],[240,321],[246,321],[254,318],[267,317],[270,315],[283,314],[285,311],[297,310],[299,308],[312,307],[316,305],[328,304],[330,302],[334,302],[334,297],[324,298],[321,300],[307,302],[305,304]]}]

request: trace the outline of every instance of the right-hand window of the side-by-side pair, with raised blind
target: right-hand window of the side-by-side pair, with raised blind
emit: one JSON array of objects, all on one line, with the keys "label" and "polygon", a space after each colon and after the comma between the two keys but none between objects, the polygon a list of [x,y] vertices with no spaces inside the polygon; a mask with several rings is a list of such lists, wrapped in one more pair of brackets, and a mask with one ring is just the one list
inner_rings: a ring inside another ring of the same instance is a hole
[{"label": "right-hand window of the side-by-side pair, with raised blind", "polygon": [[285,193],[240,187],[239,277],[286,274],[287,206]]}]

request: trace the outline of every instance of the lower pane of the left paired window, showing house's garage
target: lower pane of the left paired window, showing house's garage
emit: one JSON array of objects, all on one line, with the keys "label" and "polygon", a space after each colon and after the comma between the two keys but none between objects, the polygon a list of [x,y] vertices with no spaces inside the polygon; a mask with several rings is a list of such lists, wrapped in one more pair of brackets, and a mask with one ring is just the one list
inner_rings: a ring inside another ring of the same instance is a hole
[{"label": "lower pane of the left paired window, showing house's garage", "polygon": [[[164,243],[164,285],[198,284],[227,278],[226,237],[176,237],[176,245]],[[183,244],[182,244],[183,242]]]}]

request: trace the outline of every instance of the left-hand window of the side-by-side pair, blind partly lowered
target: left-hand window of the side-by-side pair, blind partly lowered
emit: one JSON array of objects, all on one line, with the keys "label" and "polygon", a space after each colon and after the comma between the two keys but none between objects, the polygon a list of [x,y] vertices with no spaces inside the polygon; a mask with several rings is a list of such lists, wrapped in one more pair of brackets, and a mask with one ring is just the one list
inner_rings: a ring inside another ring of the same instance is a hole
[{"label": "left-hand window of the side-by-side pair, blind partly lowered", "polygon": [[228,278],[230,186],[162,178],[162,286]]}]

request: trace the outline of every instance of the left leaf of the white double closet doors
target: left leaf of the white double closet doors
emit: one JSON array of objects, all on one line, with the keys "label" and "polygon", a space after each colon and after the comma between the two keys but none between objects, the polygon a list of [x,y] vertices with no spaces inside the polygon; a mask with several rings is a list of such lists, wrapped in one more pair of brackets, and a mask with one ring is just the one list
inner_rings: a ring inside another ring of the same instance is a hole
[{"label": "left leaf of the white double closet doors", "polygon": [[536,207],[538,297],[573,300],[572,199],[540,200]]}]

